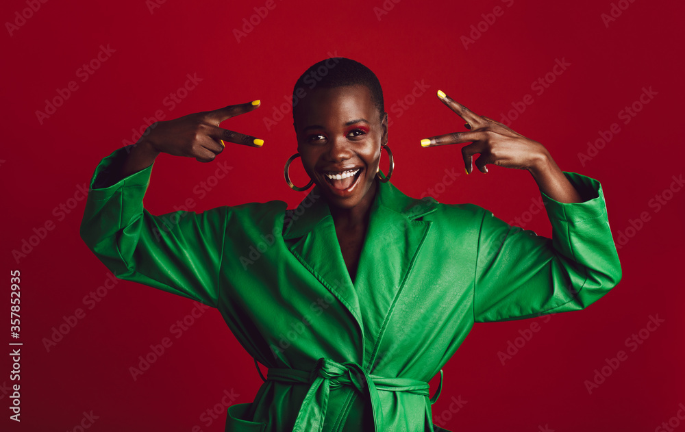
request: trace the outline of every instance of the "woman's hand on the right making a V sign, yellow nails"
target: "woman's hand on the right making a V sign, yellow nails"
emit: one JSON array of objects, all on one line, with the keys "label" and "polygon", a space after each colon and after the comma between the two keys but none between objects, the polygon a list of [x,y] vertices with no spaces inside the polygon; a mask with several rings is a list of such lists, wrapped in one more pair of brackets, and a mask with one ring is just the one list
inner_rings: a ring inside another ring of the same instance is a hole
[{"label": "woman's hand on the right making a V sign, yellow nails", "polygon": [[421,140],[421,147],[471,142],[462,147],[467,174],[473,172],[473,155],[476,153],[480,156],[475,161],[475,166],[482,173],[488,172],[487,164],[525,169],[534,173],[536,168],[549,160],[550,155],[543,144],[526,138],[491,118],[475,114],[441,90],[438,90],[438,98],[463,118],[466,128],[470,130],[425,138]]}]

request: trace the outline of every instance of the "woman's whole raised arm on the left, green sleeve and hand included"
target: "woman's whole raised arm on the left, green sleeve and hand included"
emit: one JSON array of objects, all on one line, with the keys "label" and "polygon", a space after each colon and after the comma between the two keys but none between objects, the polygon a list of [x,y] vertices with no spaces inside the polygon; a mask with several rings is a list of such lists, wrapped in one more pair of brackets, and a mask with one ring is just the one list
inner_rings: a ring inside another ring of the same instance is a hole
[{"label": "woman's whole raised arm on the left, green sleeve and hand included", "polygon": [[219,127],[256,107],[229,105],[155,123],[138,143],[114,151],[97,166],[80,233],[116,277],[216,307],[227,207],[153,216],[142,200],[160,153],[210,162],[223,151],[223,139],[259,147],[256,138]]}]

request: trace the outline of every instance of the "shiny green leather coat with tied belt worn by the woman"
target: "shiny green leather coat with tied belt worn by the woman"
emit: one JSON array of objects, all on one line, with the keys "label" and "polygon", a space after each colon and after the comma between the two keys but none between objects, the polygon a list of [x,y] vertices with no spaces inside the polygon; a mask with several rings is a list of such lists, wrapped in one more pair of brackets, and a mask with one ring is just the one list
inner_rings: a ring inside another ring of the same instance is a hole
[{"label": "shiny green leather coat with tied belt worn by the woman", "polygon": [[353,284],[315,187],[283,201],[151,215],[152,166],[97,166],[81,236],[116,277],[217,307],[269,368],[226,431],[434,431],[427,381],[474,322],[584,309],[621,279],[598,181],[564,173],[584,196],[543,194],[553,239],[477,205],[412,199],[379,183]]}]

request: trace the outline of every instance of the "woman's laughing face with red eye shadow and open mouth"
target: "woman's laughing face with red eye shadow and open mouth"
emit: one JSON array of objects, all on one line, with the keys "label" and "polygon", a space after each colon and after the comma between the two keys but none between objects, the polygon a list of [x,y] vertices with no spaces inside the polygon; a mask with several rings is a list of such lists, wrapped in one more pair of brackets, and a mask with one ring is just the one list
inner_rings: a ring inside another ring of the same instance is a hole
[{"label": "woman's laughing face with red eye shadow and open mouth", "polygon": [[[381,118],[366,86],[316,88],[297,107],[297,151],[329,205],[369,203],[388,115]],[[371,192],[371,193],[369,193]]]}]

